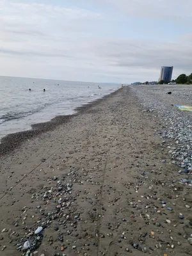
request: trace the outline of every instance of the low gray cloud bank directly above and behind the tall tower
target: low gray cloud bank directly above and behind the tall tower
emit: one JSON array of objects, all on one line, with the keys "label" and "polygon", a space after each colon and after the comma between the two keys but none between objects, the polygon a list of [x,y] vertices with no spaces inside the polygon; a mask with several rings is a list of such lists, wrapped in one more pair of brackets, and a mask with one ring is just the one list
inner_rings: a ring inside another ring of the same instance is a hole
[{"label": "low gray cloud bank directly above and behind the tall tower", "polygon": [[[191,36],[188,35],[188,38]],[[174,65],[179,70],[192,72],[191,41],[180,43],[146,42],[141,40],[111,40],[102,42],[102,48],[95,45],[95,54],[101,60],[108,60],[113,67],[143,67],[145,69]]]}]

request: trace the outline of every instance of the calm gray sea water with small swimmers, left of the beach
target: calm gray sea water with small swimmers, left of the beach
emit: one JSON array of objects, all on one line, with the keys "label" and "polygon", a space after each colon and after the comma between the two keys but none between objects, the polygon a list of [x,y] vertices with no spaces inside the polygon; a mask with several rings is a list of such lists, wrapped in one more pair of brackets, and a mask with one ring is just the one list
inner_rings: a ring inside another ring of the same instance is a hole
[{"label": "calm gray sea water with small swimmers, left of the beach", "polygon": [[54,116],[72,114],[77,106],[117,88],[118,84],[0,77],[0,138],[29,130],[32,124],[49,121]]}]

